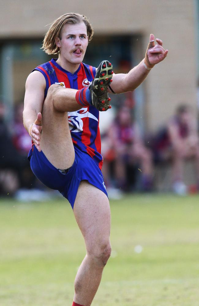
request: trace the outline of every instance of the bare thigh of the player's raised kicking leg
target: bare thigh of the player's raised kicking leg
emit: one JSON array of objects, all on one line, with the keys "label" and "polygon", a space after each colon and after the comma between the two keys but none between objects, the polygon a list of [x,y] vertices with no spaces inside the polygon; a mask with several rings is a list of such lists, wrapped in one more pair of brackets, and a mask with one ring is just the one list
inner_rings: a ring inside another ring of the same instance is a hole
[{"label": "bare thigh of the player's raised kicking leg", "polygon": [[51,96],[48,95],[42,110],[41,149],[56,168],[67,169],[74,162],[68,113],[55,110]]}]

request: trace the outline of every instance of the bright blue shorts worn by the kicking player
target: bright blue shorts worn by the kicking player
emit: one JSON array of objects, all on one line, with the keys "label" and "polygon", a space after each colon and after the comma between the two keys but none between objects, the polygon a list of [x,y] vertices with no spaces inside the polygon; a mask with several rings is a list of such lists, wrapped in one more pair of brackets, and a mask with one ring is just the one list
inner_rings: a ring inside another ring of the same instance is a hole
[{"label": "bright blue shorts worn by the kicking player", "polygon": [[31,149],[28,155],[32,172],[39,181],[47,187],[61,192],[69,201],[72,208],[82,180],[87,180],[107,195],[103,175],[99,166],[86,152],[82,152],[76,146],[74,146],[74,149],[75,160],[66,174],[61,173],[55,168],[44,153],[42,151],[39,152],[36,147],[33,147],[33,151]]}]

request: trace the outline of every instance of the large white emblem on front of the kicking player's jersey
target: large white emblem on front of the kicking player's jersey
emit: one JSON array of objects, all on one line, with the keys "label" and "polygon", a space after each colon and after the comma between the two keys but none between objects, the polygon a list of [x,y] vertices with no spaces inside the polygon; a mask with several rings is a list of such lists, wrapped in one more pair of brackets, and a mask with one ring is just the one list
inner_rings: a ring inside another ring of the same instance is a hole
[{"label": "large white emblem on front of the kicking player's jersey", "polygon": [[88,112],[88,107],[83,107],[81,110],[76,112],[68,113],[69,129],[71,132],[82,132],[83,131],[83,121],[82,118],[92,118],[96,121],[98,119],[91,113]]}]

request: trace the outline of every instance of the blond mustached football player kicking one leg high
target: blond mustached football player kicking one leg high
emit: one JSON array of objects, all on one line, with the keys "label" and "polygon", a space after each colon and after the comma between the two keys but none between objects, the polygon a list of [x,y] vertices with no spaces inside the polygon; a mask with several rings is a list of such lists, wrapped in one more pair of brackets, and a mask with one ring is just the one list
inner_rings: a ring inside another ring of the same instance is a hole
[{"label": "blond mustached football player kicking one leg high", "polygon": [[[47,54],[58,54],[27,78],[24,126],[32,137],[33,173],[59,190],[74,211],[86,245],[75,279],[73,306],[88,306],[111,255],[110,207],[101,173],[99,110],[110,108],[107,92],[133,91],[168,50],[150,35],[145,59],[128,74],[114,74],[103,61],[96,69],[82,63],[93,30],[88,19],[68,13],[53,22],[43,41]],[[61,85],[61,86],[60,86]]]}]

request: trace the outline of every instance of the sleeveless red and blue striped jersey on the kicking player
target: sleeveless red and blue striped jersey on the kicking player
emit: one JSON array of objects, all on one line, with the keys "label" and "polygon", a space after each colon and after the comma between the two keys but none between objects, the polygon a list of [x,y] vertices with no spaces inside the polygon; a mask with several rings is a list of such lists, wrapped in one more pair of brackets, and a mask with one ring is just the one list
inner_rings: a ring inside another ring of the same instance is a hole
[{"label": "sleeveless red and blue striped jersey on the kicking player", "polygon": [[[60,84],[65,88],[81,89],[88,87],[96,74],[96,68],[81,63],[75,73],[63,69],[56,59],[36,67],[46,80],[44,99],[52,84]],[[34,71],[33,70],[33,71]],[[87,152],[97,165],[102,168],[101,140],[99,129],[99,111],[94,106],[83,107],[68,113],[69,128],[74,146]]]}]

